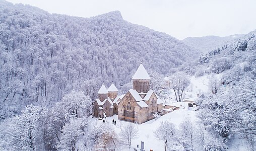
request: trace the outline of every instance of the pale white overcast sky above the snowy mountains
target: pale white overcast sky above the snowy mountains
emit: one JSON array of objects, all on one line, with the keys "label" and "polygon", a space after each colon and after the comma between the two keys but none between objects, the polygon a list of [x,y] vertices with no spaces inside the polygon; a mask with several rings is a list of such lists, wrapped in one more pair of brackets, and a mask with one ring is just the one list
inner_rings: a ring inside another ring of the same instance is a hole
[{"label": "pale white overcast sky above the snowy mountains", "polygon": [[255,0],[8,0],[49,13],[92,17],[120,11],[124,20],[177,39],[246,34],[256,29]]}]

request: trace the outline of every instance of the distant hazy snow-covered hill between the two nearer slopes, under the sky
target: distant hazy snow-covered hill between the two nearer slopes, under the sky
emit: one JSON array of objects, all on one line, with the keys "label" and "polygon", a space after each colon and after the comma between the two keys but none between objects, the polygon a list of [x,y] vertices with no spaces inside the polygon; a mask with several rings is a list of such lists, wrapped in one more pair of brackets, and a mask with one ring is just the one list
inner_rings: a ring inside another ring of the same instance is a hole
[{"label": "distant hazy snow-covered hill between the two nearer slopes, under the sky", "polygon": [[219,36],[205,36],[205,37],[187,37],[182,40],[186,45],[195,50],[199,50],[201,53],[207,53],[214,48],[217,48],[228,41],[240,38],[244,34],[231,35],[227,37]]}]

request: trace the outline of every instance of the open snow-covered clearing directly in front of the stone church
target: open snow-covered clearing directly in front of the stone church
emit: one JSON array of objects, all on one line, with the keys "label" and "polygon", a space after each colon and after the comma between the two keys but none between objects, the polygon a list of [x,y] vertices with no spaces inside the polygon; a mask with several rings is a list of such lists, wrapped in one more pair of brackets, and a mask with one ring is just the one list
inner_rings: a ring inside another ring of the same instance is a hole
[{"label": "open snow-covered clearing directly in front of the stone church", "polygon": [[[154,136],[153,131],[160,125],[161,121],[169,121],[175,124],[176,128],[178,128],[179,124],[184,118],[189,118],[191,121],[197,120],[196,111],[185,109],[175,110],[171,113],[165,114],[161,116],[159,119],[150,120],[148,122],[142,124],[135,124],[135,127],[139,130],[139,137],[132,141],[132,147],[130,150],[134,150],[133,147],[136,147],[137,144],[141,144],[141,141],[144,141],[144,148],[145,150],[164,150],[164,144],[162,141],[159,141]],[[129,124],[131,122],[120,121],[118,120],[117,115],[113,115],[107,117],[107,122],[102,123],[102,121],[98,120],[97,118],[92,118],[92,122],[96,124],[112,124],[112,120],[116,120],[115,131],[116,133],[120,133],[120,127],[124,126],[125,124]],[[127,149],[129,150],[129,149]]]}]

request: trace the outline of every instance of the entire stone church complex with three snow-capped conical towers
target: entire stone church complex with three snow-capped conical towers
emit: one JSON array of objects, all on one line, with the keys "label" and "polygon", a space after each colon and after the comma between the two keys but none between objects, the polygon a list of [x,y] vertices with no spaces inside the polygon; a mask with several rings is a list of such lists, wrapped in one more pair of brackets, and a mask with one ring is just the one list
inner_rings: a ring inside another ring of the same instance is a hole
[{"label": "entire stone church complex with three snow-capped conical towers", "polygon": [[106,89],[103,84],[98,92],[99,98],[93,104],[93,116],[103,118],[118,115],[119,120],[138,122],[154,119],[154,113],[163,109],[163,102],[150,90],[150,77],[143,64],[133,76],[133,89],[125,95],[117,96],[118,90],[112,84]]}]

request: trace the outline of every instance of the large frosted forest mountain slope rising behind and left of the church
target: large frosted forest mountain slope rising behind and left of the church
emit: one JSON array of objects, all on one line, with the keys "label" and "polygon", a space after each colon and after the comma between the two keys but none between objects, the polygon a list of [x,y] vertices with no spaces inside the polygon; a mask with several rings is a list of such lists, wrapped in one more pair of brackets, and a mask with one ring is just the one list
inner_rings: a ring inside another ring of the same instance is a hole
[{"label": "large frosted forest mountain slope rising behind and left of the church", "polygon": [[167,34],[124,21],[118,11],[80,18],[5,1],[0,52],[3,116],[27,104],[48,105],[73,89],[95,98],[102,82],[120,89],[141,60],[146,69],[167,74],[198,56]]}]

